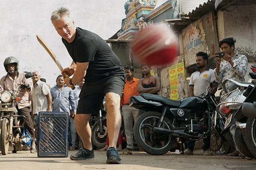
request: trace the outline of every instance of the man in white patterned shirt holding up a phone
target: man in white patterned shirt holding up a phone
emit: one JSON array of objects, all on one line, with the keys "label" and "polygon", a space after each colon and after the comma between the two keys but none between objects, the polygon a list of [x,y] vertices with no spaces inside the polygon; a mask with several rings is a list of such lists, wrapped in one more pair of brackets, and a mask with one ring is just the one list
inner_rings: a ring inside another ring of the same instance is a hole
[{"label": "man in white patterned shirt holding up a phone", "polygon": [[[236,40],[233,37],[225,38],[220,41],[219,47],[223,52],[225,52],[225,55],[223,58],[220,58],[218,55],[214,56],[215,62],[216,62],[216,68],[214,69],[215,73],[215,80],[223,82],[227,78],[242,82],[244,81],[244,76],[247,72],[248,67],[248,61],[247,57],[245,55],[241,55],[238,53],[235,53],[235,42]],[[229,90],[229,88],[232,86],[232,82],[228,81],[226,82],[226,89]],[[224,92],[222,91],[221,94]],[[230,133],[232,134],[234,143],[235,143],[235,129],[236,124],[233,124],[232,127],[230,127]],[[235,144],[235,151],[232,153],[229,153],[228,156],[239,156],[240,151],[238,147]]]}]

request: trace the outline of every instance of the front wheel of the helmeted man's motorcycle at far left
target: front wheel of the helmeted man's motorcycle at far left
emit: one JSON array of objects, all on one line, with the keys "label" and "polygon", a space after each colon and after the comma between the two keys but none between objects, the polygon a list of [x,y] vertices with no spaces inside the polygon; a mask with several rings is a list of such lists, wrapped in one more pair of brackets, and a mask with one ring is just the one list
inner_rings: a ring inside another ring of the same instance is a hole
[{"label": "front wheel of the helmeted man's motorcycle at far left", "polygon": [[2,155],[6,155],[9,149],[9,120],[7,118],[3,118],[1,125],[1,152]]}]

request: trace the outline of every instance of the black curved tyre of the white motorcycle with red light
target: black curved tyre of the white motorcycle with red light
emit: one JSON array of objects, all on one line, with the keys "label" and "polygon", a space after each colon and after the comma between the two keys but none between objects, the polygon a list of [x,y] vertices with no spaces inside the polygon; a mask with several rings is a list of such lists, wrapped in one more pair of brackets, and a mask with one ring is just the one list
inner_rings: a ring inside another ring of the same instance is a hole
[{"label": "black curved tyre of the white motorcycle with red light", "polygon": [[238,149],[241,151],[241,153],[244,154],[244,156],[254,158],[253,154],[248,149],[244,140],[244,135],[242,134],[241,129],[239,128],[236,128],[235,130],[235,143]]}]

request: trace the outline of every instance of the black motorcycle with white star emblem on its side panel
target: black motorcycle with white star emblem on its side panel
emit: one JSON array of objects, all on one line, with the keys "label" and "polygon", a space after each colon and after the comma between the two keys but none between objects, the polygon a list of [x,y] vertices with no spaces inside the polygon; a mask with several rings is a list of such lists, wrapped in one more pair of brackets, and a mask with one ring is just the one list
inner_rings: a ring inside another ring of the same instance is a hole
[{"label": "black motorcycle with white star emblem on its side panel", "polygon": [[170,151],[176,141],[198,141],[210,133],[216,99],[209,91],[200,96],[171,100],[159,95],[140,93],[129,98],[131,107],[146,110],[134,124],[134,138],[141,149],[151,155]]}]

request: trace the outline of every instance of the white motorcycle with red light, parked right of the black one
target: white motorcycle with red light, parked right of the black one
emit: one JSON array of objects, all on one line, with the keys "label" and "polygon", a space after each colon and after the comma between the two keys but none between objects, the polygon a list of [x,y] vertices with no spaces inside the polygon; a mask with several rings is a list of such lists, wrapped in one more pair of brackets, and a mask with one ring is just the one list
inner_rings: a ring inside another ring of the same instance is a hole
[{"label": "white motorcycle with red light, parked right of the black one", "polygon": [[233,90],[231,87],[232,91],[223,95],[223,100],[217,106],[219,108],[218,110],[220,114],[227,118],[225,127],[221,133],[226,133],[226,131],[228,131],[234,124],[236,124],[234,138],[238,149],[241,151],[241,153],[244,154],[244,156],[254,158],[249,148],[247,147],[246,140],[244,138],[244,127],[246,119],[241,116],[241,114],[238,116],[238,112],[240,112],[241,106],[244,105],[247,95],[253,89],[253,84],[246,82],[236,82],[233,80],[227,81],[232,81],[234,84],[232,86]]}]

